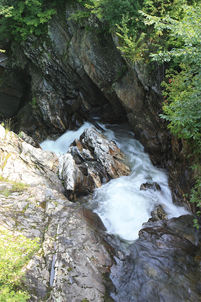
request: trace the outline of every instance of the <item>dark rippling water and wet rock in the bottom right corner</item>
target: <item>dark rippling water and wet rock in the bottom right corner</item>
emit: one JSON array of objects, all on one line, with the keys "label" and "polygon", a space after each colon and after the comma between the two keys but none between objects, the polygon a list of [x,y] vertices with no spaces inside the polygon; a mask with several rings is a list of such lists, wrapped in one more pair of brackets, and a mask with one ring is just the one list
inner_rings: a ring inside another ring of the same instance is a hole
[{"label": "dark rippling water and wet rock in the bottom right corner", "polygon": [[[193,229],[193,219],[193,215],[182,215],[162,224],[161,220],[150,222],[150,226],[147,223],[139,239],[129,246],[129,253],[123,259],[116,254],[117,264],[111,268],[116,301],[200,299],[200,246],[191,242],[192,233],[197,237],[198,231]],[[191,235],[187,238],[187,234]]]}]

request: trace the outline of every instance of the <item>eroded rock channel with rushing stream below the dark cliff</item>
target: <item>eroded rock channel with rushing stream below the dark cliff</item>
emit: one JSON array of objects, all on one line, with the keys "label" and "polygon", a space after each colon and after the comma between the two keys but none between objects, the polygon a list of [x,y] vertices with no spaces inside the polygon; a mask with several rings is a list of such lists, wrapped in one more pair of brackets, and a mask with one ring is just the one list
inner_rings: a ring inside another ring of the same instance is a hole
[{"label": "eroded rock channel with rushing stream below the dark cliff", "polygon": [[0,126],[1,225],[42,244],[23,268],[30,302],[198,301],[194,216],[133,133],[109,128],[55,154]]}]

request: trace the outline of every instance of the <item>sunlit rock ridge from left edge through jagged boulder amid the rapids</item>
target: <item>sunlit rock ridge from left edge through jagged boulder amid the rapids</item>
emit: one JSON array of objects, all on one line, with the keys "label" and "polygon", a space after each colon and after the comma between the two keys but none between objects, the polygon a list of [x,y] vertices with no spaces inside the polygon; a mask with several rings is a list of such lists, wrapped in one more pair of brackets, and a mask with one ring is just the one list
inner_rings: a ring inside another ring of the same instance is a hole
[{"label": "sunlit rock ridge from left edge through jagged boulder amid the rapids", "polygon": [[35,148],[1,125],[0,143],[3,178],[31,186],[44,184],[58,192],[65,191],[73,200],[130,173],[130,168],[119,162],[124,159],[124,153],[94,128],[85,129],[80,141],[75,140],[65,155]]}]

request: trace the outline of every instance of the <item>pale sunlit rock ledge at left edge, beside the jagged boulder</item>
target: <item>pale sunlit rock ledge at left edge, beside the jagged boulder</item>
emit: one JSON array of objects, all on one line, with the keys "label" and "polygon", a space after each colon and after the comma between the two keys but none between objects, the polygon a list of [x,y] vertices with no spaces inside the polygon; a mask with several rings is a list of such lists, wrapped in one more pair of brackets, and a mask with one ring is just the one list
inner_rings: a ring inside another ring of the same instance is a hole
[{"label": "pale sunlit rock ledge at left edge, beside the jagged boulder", "polygon": [[63,193],[57,161],[53,152],[33,147],[0,125],[0,175],[3,178],[30,186],[44,184]]}]

